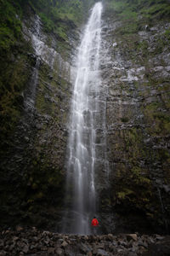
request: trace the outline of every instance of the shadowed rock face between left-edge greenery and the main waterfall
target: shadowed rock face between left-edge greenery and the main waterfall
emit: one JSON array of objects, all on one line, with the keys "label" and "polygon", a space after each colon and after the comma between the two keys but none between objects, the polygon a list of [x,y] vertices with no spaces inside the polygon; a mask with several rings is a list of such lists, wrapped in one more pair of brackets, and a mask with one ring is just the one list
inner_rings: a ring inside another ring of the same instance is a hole
[{"label": "shadowed rock face between left-edge greenery and the main waterfall", "polygon": [[37,223],[54,229],[64,194],[71,64],[62,50],[56,51],[56,38],[43,32],[37,15],[29,13],[22,26],[31,44],[26,52],[31,61],[23,63],[30,79],[20,121],[1,155],[1,220],[3,225]]}]

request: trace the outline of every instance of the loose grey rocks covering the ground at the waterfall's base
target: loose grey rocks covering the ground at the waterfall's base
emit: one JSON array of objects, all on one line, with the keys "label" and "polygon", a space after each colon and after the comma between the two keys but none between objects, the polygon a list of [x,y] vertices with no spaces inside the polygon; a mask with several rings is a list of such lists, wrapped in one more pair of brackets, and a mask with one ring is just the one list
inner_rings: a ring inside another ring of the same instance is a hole
[{"label": "loose grey rocks covering the ground at the waterfall's base", "polygon": [[161,256],[170,253],[169,236],[146,236],[137,233],[78,236],[40,231],[35,227],[28,230],[20,227],[17,230],[3,230],[0,233],[1,256]]}]

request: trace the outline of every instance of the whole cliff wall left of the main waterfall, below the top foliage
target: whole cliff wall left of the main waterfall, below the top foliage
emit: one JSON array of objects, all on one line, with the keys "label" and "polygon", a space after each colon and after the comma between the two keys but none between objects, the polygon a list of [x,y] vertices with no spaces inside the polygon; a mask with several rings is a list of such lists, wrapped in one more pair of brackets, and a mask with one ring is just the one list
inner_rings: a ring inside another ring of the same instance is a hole
[{"label": "whole cliff wall left of the main waterfall, below the top foliage", "polygon": [[[65,188],[71,54],[79,36],[71,20],[62,21],[68,39],[47,32],[30,5],[24,7],[22,20],[17,19],[21,41],[16,40],[1,61],[8,61],[1,68],[6,85],[1,88],[1,224],[55,229]],[[8,100],[9,93],[16,104]]]}]

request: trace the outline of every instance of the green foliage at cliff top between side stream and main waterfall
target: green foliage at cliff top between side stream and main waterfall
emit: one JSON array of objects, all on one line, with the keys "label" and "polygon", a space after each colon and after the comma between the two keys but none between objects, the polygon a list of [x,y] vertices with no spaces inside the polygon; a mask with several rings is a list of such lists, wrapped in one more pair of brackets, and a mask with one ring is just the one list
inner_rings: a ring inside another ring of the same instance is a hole
[{"label": "green foliage at cliff top between side stream and main waterfall", "polygon": [[61,40],[67,39],[71,28],[82,22],[94,0],[30,0],[29,4],[40,15],[46,32],[54,32]]}]

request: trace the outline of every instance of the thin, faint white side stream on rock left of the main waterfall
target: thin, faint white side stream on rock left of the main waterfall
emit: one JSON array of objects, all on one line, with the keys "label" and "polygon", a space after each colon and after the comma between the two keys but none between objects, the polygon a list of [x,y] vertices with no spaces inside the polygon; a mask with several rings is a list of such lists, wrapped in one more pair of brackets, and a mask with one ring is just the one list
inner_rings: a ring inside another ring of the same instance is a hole
[{"label": "thin, faint white side stream on rock left of the main waterfall", "polygon": [[35,67],[32,68],[30,84],[24,92],[25,110],[27,113],[31,113],[36,102],[39,83],[38,74],[41,63],[44,61],[50,68],[51,73],[54,70],[55,74],[58,74],[59,77],[65,80],[70,80],[70,65],[56,52],[56,45],[54,44],[53,38],[51,47],[48,46],[47,35],[42,32],[42,21],[38,15],[35,15],[33,24],[31,24],[29,29],[23,23],[23,32],[26,41],[30,42],[31,40],[34,49],[34,59],[36,60]]}]

